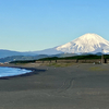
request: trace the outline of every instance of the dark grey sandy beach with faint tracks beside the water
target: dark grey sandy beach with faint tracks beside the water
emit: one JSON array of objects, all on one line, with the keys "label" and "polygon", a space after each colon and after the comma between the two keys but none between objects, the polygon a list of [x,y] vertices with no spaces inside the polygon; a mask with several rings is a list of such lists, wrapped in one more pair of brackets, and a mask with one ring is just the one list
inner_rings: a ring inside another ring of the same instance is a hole
[{"label": "dark grey sandy beach with faint tracks beside the water", "polygon": [[109,64],[17,66],[33,73],[0,78],[0,109],[109,109]]}]

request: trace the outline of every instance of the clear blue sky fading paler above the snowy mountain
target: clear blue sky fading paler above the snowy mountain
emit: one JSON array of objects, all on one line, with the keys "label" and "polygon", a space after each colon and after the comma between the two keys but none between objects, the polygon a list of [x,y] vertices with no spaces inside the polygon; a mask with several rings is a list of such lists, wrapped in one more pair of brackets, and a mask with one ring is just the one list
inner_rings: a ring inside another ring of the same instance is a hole
[{"label": "clear blue sky fading paler above the snowy mountain", "polygon": [[43,50],[86,33],[109,40],[109,0],[0,0],[0,49]]}]

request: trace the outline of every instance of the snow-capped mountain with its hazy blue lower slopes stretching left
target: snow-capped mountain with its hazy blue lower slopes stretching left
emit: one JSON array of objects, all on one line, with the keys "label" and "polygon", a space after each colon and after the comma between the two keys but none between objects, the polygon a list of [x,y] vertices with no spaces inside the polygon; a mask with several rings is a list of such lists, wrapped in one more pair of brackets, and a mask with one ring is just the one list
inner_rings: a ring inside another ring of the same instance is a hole
[{"label": "snow-capped mountain with its hazy blue lower slopes stretching left", "polygon": [[65,45],[61,45],[55,48],[49,48],[40,51],[32,52],[19,52],[11,50],[0,49],[0,58],[11,57],[11,56],[76,56],[76,55],[101,55],[101,52],[109,55],[109,41],[104,39],[97,34],[85,34]]}]

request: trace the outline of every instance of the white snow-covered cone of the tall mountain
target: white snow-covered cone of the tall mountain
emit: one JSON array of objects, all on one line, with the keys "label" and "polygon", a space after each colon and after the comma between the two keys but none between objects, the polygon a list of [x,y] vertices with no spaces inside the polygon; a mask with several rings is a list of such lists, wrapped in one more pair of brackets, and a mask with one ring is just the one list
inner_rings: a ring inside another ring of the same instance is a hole
[{"label": "white snow-covered cone of the tall mountain", "polygon": [[109,53],[109,41],[97,34],[85,34],[71,43],[56,48],[58,51],[72,53]]}]

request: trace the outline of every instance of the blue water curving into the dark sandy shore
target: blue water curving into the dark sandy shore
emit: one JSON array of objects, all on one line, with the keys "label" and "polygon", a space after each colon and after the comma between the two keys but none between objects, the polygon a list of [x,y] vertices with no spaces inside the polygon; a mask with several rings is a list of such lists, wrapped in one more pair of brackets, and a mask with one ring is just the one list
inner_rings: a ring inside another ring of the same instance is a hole
[{"label": "blue water curving into the dark sandy shore", "polygon": [[32,72],[31,70],[0,66],[0,77],[14,76]]}]

